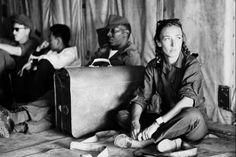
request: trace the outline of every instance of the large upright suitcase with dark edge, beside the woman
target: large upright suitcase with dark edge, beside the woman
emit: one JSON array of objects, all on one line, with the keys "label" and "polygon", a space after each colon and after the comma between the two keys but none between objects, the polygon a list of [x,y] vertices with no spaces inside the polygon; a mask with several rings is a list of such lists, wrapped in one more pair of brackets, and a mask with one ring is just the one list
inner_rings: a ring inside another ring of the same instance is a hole
[{"label": "large upright suitcase with dark edge, beside the woman", "polygon": [[113,111],[129,103],[143,77],[142,66],[71,67],[57,71],[56,128],[75,138],[104,129],[114,123]]}]

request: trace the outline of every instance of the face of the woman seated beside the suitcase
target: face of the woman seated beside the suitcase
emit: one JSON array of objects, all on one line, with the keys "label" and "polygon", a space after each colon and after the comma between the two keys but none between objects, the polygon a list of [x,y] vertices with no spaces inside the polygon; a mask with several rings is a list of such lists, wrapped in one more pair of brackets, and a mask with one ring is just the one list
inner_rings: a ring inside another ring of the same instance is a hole
[{"label": "face of the woman seated beside the suitcase", "polygon": [[162,29],[160,41],[157,41],[166,57],[178,57],[183,43],[183,33],[180,27],[168,26]]}]

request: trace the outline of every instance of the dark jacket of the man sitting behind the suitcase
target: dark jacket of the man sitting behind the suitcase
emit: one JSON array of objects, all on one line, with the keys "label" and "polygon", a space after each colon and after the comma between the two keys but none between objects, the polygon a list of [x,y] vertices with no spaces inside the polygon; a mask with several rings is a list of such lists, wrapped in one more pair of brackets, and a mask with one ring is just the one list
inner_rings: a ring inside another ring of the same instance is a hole
[{"label": "dark jacket of the man sitting behind the suitcase", "polygon": [[[95,53],[95,58],[109,58],[110,48],[104,48],[105,51],[98,51]],[[109,58],[111,65],[141,65],[140,54],[134,44],[128,42],[127,46],[121,50],[118,50],[113,56]]]}]

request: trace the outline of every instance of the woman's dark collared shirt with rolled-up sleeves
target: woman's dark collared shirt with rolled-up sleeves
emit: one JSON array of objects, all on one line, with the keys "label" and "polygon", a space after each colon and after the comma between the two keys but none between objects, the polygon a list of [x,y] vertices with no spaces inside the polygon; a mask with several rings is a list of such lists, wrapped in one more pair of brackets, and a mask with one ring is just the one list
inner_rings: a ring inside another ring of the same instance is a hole
[{"label": "woman's dark collared shirt with rolled-up sleeves", "polygon": [[[168,112],[183,97],[193,99],[198,106],[203,96],[202,79],[200,63],[193,55],[181,53],[173,65],[155,58],[146,67],[143,89],[132,101],[154,113]],[[152,103],[153,95],[161,104]]]}]

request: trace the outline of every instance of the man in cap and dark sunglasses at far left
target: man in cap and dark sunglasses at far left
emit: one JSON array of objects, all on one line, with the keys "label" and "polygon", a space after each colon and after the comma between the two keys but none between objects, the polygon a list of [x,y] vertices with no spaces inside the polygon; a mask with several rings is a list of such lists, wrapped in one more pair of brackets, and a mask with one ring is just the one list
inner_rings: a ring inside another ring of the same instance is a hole
[{"label": "man in cap and dark sunglasses at far left", "polygon": [[[0,39],[0,97],[3,97],[3,75],[11,72],[14,80],[17,80],[17,72],[27,62],[30,54],[35,51],[39,42],[33,37],[33,24],[31,20],[21,14],[13,19],[13,36],[15,41]],[[2,93],[2,95],[1,95]],[[2,99],[2,98],[1,98]]]}]

